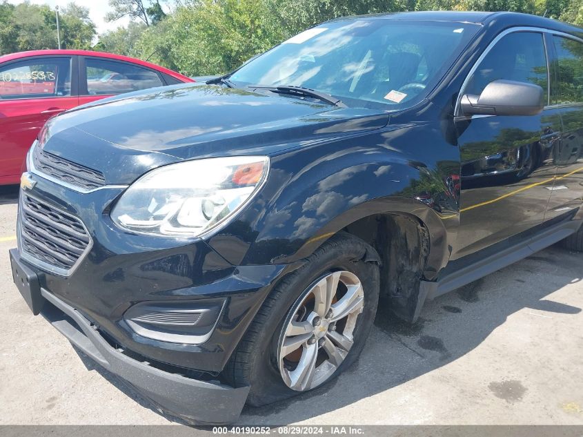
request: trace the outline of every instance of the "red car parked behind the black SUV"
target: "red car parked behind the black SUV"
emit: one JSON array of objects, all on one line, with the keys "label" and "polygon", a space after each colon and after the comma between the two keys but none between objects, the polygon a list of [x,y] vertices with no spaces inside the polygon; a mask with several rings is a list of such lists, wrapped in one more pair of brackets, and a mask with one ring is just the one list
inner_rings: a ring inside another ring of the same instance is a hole
[{"label": "red car parked behind the black SUV", "polygon": [[17,184],[30,144],[58,113],[111,95],[192,82],[111,53],[37,50],[0,56],[0,185]]}]

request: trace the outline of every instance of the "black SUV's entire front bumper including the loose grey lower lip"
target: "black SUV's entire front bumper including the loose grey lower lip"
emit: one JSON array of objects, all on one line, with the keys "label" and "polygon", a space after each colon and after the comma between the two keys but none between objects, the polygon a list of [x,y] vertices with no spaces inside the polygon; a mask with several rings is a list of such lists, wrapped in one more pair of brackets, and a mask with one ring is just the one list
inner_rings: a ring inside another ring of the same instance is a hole
[{"label": "black SUV's entire front bumper including the loose grey lower lip", "polygon": [[[75,267],[59,274],[23,257],[19,217],[19,249],[11,256],[38,279],[41,314],[160,409],[199,424],[236,420],[249,387],[228,387],[220,373],[286,266],[235,266],[203,240],[123,232],[108,214],[123,188],[79,193],[37,174],[34,182],[26,193],[78,217],[92,240]],[[220,304],[221,311],[210,336],[188,344],[131,329],[124,315],[139,304]]]}]

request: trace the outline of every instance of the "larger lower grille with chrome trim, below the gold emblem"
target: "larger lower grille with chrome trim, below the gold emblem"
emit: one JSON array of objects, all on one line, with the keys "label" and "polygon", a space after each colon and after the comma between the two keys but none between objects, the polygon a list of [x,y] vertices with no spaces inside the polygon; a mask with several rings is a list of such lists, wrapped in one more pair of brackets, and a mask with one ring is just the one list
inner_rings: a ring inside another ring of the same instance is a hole
[{"label": "larger lower grille with chrome trim, below the gold emblem", "polygon": [[63,270],[71,269],[91,242],[79,219],[26,193],[21,193],[20,237],[24,253]]}]

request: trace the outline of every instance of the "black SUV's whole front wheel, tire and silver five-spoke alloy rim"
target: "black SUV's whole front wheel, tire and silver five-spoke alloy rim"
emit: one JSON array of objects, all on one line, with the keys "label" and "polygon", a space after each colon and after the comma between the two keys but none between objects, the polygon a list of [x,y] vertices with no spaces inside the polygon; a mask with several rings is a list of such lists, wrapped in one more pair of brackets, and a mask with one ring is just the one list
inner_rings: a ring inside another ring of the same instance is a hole
[{"label": "black SUV's whole front wheel, tire and silver five-spoke alloy rim", "polygon": [[377,310],[377,259],[357,237],[335,235],[273,289],[224,370],[235,387],[250,385],[250,405],[319,387],[356,360]]}]

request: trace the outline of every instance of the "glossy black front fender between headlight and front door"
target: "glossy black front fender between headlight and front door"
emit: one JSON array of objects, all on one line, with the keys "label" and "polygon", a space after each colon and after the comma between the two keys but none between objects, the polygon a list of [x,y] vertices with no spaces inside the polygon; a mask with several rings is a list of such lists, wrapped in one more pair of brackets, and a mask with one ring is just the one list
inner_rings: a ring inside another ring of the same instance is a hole
[{"label": "glossy black front fender between headlight and front door", "polygon": [[457,222],[448,179],[459,174],[459,153],[439,147],[437,127],[417,127],[388,126],[272,157],[259,195],[208,243],[235,265],[291,263],[362,217],[403,213],[428,229],[428,269],[439,271],[451,249],[446,228]]}]

